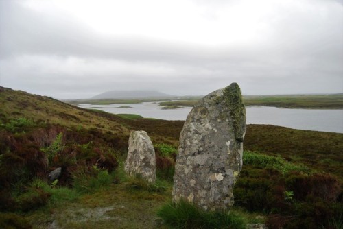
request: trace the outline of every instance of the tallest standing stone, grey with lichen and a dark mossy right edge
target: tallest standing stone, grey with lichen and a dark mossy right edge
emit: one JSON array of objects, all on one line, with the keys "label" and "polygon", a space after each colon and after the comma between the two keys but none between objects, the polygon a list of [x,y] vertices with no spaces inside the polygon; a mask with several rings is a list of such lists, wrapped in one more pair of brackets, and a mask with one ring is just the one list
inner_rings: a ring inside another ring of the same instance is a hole
[{"label": "tallest standing stone, grey with lichen and a dark mossy right edge", "polygon": [[242,166],[246,109],[238,84],[200,99],[180,134],[174,174],[174,201],[204,210],[233,205],[233,186]]}]

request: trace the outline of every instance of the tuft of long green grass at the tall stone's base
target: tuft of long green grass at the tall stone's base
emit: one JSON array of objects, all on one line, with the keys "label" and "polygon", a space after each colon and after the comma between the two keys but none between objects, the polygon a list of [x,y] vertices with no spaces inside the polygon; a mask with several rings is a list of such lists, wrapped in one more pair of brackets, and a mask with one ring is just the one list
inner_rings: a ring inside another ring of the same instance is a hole
[{"label": "tuft of long green grass at the tall stone's base", "polygon": [[236,213],[206,212],[184,200],[163,205],[157,215],[173,228],[246,228],[245,219]]}]

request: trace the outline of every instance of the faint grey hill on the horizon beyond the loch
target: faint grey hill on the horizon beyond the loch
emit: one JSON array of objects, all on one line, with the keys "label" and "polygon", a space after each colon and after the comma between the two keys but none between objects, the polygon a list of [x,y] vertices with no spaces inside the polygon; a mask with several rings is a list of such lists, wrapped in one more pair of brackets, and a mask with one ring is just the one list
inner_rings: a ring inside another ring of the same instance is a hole
[{"label": "faint grey hill on the horizon beyond the loch", "polygon": [[154,97],[176,97],[175,95],[168,95],[159,91],[106,91],[99,95],[93,96],[91,99],[141,99]]}]

